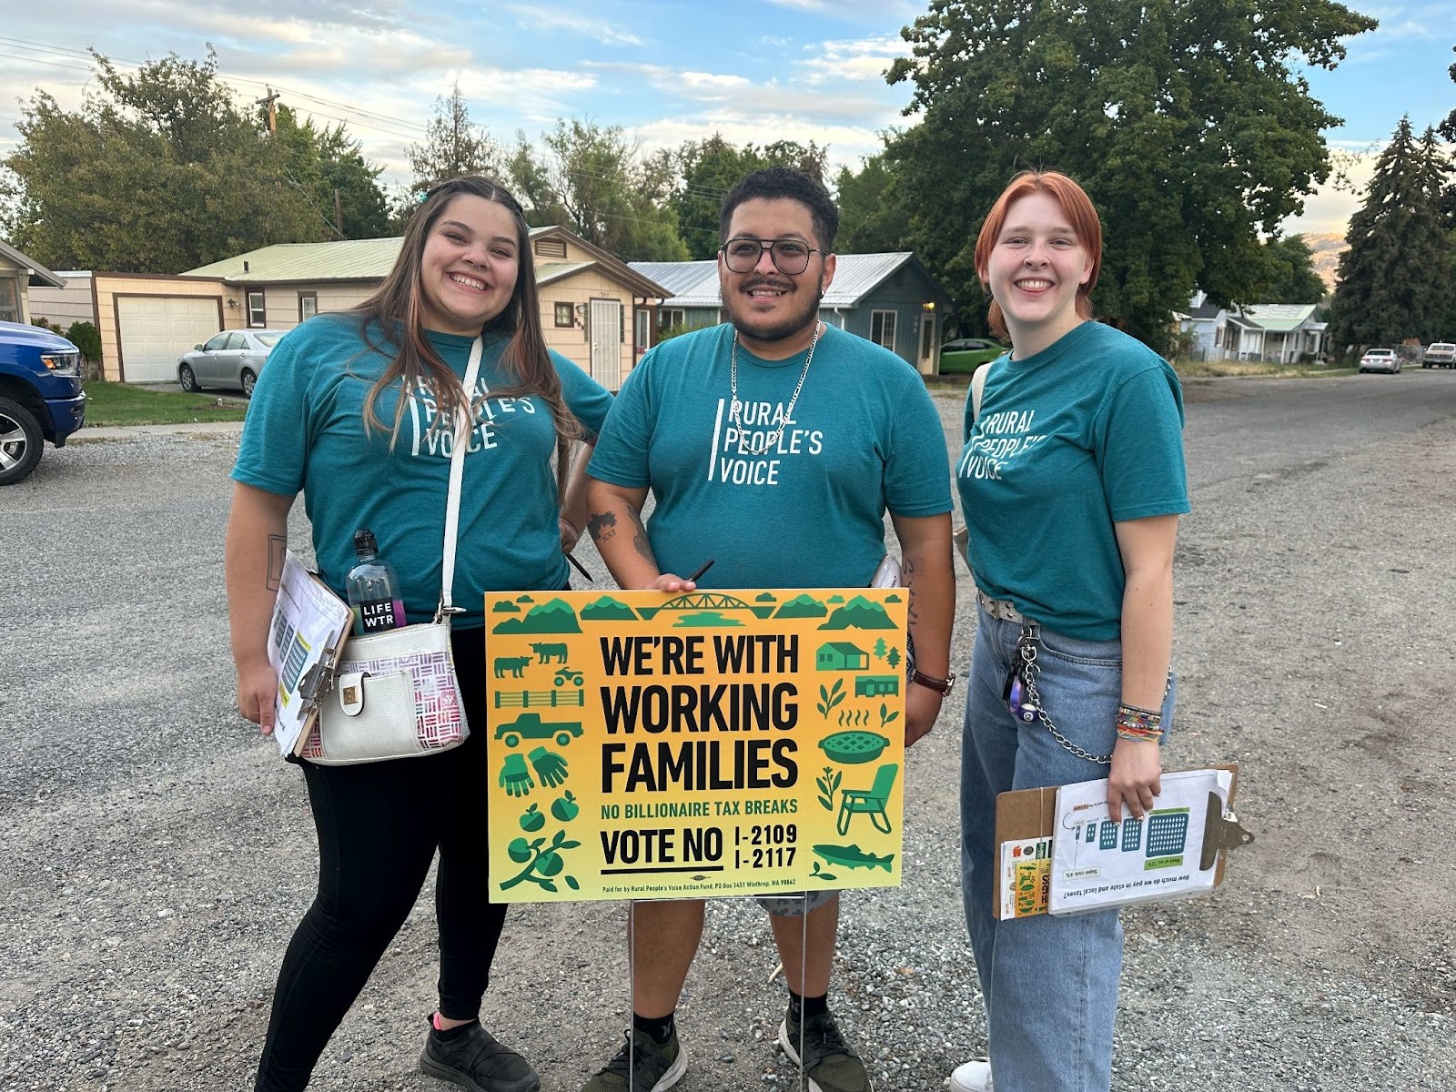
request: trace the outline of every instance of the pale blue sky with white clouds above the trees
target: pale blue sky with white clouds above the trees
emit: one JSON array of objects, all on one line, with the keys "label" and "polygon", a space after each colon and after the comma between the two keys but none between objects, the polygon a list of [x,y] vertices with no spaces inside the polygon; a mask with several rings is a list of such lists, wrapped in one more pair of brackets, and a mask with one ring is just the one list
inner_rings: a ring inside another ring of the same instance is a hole
[{"label": "pale blue sky with white clouds above the trees", "polygon": [[[1456,108],[1456,0],[1350,6],[1380,29],[1348,42],[1315,98],[1345,124],[1326,134],[1369,178],[1402,114],[1417,131]],[[437,96],[459,82],[472,118],[498,140],[534,140],[558,118],[620,125],[645,149],[721,132],[735,144],[828,146],[856,166],[879,134],[904,125],[906,84],[884,70],[906,52],[907,0],[67,0],[13,4],[0,22],[0,156],[15,149],[22,102],[36,89],[63,108],[90,82],[87,47],[121,67],[217,50],[240,95],[272,87],[319,121],[345,121],[383,181],[408,181],[405,149],[422,140]],[[1342,232],[1358,197],[1326,186],[1290,232]]]}]

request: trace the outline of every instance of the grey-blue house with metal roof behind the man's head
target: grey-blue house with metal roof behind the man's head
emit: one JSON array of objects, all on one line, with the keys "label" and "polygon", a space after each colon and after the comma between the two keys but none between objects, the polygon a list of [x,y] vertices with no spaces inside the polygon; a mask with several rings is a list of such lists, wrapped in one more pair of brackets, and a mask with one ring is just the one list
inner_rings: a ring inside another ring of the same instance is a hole
[{"label": "grey-blue house with metal roof behind the man's head", "polygon": [[[632,262],[632,268],[668,290],[657,310],[658,331],[724,320],[718,262]],[[884,345],[923,376],[935,376],[948,306],[949,297],[909,250],[842,253],[820,301],[820,319]]]}]

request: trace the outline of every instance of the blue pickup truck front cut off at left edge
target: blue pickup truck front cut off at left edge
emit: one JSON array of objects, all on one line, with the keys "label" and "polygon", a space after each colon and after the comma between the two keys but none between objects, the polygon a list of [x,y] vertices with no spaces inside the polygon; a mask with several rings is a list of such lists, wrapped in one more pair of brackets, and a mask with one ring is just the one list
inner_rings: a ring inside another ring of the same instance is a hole
[{"label": "blue pickup truck front cut off at left edge", "polygon": [[0,485],[31,473],[47,440],[64,447],[84,421],[80,349],[39,326],[0,322]]}]

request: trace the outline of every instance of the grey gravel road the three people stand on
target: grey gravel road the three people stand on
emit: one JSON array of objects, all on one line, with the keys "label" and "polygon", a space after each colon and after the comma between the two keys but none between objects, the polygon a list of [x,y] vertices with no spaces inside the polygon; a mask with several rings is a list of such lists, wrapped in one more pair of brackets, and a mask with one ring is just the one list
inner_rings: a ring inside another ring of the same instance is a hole
[{"label": "grey gravel road the three people stand on", "polygon": [[[1213,897],[1127,914],[1114,1088],[1456,1088],[1456,377],[1188,395],[1168,764],[1239,761],[1258,842]],[[938,403],[957,435],[960,395]],[[301,778],[233,708],[234,448],[79,441],[0,491],[3,1092],[252,1088],[316,858]],[[879,1092],[941,1089],[986,1045],[958,893],[960,697],[909,756],[903,887],[846,897],[831,1003]],[[507,922],[485,1019],[546,1092],[575,1092],[620,1042],[626,913]],[[798,1088],[773,1047],[775,964],[751,903],[711,907],[683,1092]],[[425,897],[313,1088],[446,1092],[415,1072],[432,965]]]}]

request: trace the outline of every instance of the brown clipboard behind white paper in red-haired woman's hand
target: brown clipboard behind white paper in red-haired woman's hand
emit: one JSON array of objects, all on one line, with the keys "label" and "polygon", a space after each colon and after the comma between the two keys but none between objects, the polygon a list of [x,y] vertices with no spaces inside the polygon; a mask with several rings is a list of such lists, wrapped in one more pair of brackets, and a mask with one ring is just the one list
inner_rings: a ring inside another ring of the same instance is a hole
[{"label": "brown clipboard behind white paper in red-haired woman's hand", "polygon": [[[1204,802],[1203,842],[1198,846],[1198,871],[1213,869],[1213,882],[1197,891],[1169,893],[1166,898],[1207,894],[1223,882],[1227,852],[1254,842],[1254,834],[1239,826],[1233,814],[1233,798],[1239,783],[1236,763],[1200,767],[1230,775],[1227,799],[1210,792]],[[1168,770],[1181,773],[1184,770]],[[1187,770],[1197,773],[1198,770]],[[996,796],[996,852],[992,879],[992,914],[997,920],[1031,917],[1047,913],[1050,904],[1053,843],[1057,837],[1057,785],[1038,789],[1018,789]],[[1155,805],[1156,808],[1156,805]],[[1003,884],[1012,884],[1009,900],[1003,900]],[[1147,895],[1137,900],[1108,903],[1124,906],[1133,901],[1156,901]],[[1012,913],[1003,913],[1006,909]],[[1088,907],[1104,909],[1104,906]]]}]

